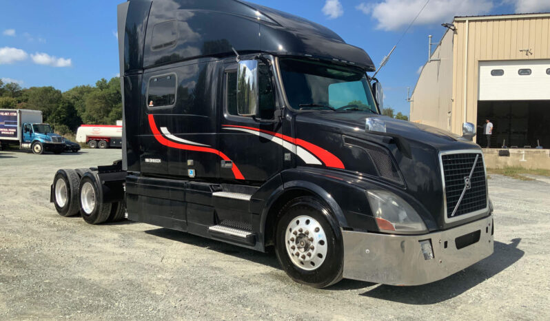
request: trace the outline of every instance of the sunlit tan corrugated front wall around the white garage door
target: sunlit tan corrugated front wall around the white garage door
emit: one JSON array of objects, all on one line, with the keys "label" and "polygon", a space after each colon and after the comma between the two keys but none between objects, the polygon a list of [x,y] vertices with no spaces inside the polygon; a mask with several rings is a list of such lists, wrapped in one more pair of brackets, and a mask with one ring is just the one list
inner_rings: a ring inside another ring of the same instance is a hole
[{"label": "sunlit tan corrugated front wall around the white garage door", "polygon": [[462,134],[465,119],[477,121],[479,61],[548,59],[549,22],[550,14],[455,19],[452,132]]}]

